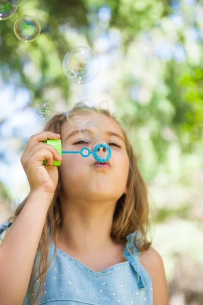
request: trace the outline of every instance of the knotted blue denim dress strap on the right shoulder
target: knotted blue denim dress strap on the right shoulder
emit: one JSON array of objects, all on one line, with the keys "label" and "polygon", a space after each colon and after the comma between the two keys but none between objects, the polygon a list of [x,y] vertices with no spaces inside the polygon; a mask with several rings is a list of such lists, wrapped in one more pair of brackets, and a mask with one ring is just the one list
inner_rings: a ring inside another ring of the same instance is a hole
[{"label": "knotted blue denim dress strap on the right shoulder", "polygon": [[[143,281],[143,278],[141,275],[141,271],[140,271],[140,262],[139,262],[140,253],[137,250],[137,248],[135,247],[134,242],[133,242],[135,234],[136,234],[136,231],[127,236],[127,243],[126,243],[126,248],[124,250],[124,255],[137,273],[137,284],[138,284],[139,290],[143,290],[143,289],[146,289],[146,285],[144,284],[144,281]],[[138,232],[136,244],[138,242],[138,238],[139,238],[140,234],[141,233]],[[130,252],[130,248],[132,248],[132,247],[133,247],[133,254]]]}]

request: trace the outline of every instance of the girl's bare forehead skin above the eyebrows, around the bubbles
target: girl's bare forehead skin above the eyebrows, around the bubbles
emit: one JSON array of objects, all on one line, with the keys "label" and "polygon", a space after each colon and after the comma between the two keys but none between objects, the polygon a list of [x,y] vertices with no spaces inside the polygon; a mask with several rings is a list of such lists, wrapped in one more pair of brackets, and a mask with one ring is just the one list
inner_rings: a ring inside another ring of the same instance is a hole
[{"label": "girl's bare forehead skin above the eyebrows, around the bubbles", "polygon": [[[119,125],[117,124],[117,122],[111,118],[108,117],[105,114],[97,114],[94,113],[93,115],[88,114],[85,116],[85,119],[88,119],[89,121],[97,121],[97,123],[100,125],[102,132],[105,133],[105,131],[111,131],[111,132],[115,132],[118,133],[119,135],[123,136],[123,131],[121,130],[121,128],[119,127]],[[66,136],[68,134],[70,134],[72,131],[75,131],[79,128],[79,125],[71,125],[69,123],[69,121],[67,120],[63,126],[62,126],[62,130],[61,130],[61,134],[62,136]]]}]

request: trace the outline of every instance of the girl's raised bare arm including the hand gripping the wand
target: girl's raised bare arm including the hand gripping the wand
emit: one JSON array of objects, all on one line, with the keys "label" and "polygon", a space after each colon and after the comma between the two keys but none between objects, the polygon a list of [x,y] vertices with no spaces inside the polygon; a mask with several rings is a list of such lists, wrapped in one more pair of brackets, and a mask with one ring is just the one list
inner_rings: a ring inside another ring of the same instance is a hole
[{"label": "girl's raised bare arm including the hand gripping the wand", "polygon": [[[59,177],[56,166],[52,164],[53,160],[61,160],[61,156],[53,146],[43,141],[59,138],[59,134],[50,131],[33,135],[20,159],[31,193],[0,247],[1,304],[23,303]],[[44,159],[47,166],[43,165]]]}]

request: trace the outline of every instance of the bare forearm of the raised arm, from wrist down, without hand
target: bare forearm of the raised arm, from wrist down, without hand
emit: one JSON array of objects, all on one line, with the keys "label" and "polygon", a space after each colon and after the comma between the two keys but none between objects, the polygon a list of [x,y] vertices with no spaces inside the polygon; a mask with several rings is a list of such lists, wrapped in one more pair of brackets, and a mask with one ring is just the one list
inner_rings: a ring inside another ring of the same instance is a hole
[{"label": "bare forearm of the raised arm, from wrist down, without hand", "polygon": [[34,192],[9,228],[0,247],[0,299],[4,305],[23,303],[52,197]]}]

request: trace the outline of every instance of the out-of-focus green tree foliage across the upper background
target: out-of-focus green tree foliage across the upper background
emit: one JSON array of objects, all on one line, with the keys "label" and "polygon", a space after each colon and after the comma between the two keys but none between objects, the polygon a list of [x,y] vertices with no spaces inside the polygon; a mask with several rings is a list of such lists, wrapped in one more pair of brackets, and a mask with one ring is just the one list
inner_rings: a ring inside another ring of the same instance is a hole
[{"label": "out-of-focus green tree foliage across the upper background", "polygon": [[[192,41],[199,50],[197,58],[189,49],[187,31],[192,28],[202,34],[203,25],[199,19],[188,18],[194,15],[193,8],[181,1],[175,2],[179,8],[174,8],[173,2],[27,0],[10,19],[0,22],[1,77],[16,88],[27,88],[31,107],[46,100],[47,92],[54,89],[68,105],[71,83],[63,73],[64,55],[78,45],[93,48],[100,35],[119,33],[118,62],[110,67],[111,83],[106,90],[150,182],[158,164],[166,162],[171,143],[177,143],[183,153],[191,153],[202,139],[202,36]],[[98,18],[104,6],[111,11],[106,21]],[[198,9],[196,6],[195,12]],[[32,43],[19,41],[13,33],[15,20],[26,14],[41,24],[41,35]],[[172,15],[182,18],[184,24],[173,22]],[[142,40],[148,45],[147,52]],[[160,56],[157,46],[164,48],[165,43],[166,53],[171,46],[181,45],[185,58]],[[133,87],[139,87],[138,100],[130,94]]]}]

